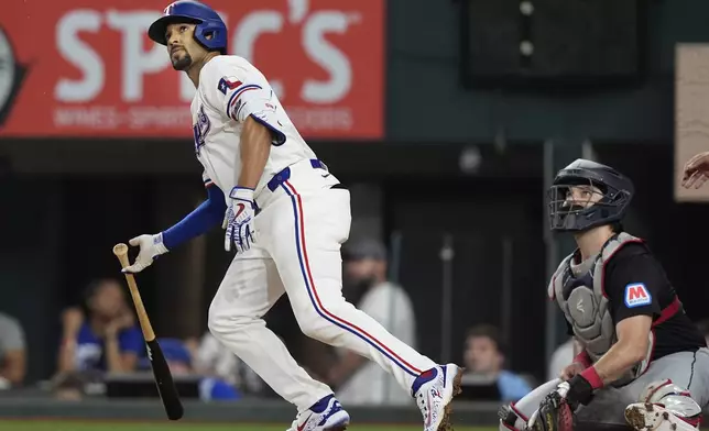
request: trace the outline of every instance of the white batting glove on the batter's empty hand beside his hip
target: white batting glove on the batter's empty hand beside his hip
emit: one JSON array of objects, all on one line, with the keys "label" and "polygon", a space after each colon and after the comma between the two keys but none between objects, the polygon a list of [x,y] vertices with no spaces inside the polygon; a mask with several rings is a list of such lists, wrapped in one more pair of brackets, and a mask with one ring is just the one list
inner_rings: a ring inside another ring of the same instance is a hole
[{"label": "white batting glove on the batter's empty hand beside his hip", "polygon": [[257,206],[253,201],[253,189],[237,186],[231,189],[229,198],[229,206],[221,223],[221,229],[227,230],[223,247],[230,252],[233,244],[237,253],[243,253],[251,248],[251,244],[255,241],[253,218]]}]

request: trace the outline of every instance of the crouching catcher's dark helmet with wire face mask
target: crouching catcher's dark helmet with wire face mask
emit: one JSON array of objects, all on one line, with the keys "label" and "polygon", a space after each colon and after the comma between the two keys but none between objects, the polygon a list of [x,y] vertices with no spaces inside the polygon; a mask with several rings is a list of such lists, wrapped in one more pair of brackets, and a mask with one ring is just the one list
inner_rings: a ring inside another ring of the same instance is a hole
[{"label": "crouching catcher's dark helmet with wire face mask", "polygon": [[[602,198],[590,207],[569,205],[572,186],[592,186]],[[633,183],[612,167],[578,158],[554,178],[547,190],[549,224],[557,232],[580,232],[603,224],[619,223],[634,194]]]}]

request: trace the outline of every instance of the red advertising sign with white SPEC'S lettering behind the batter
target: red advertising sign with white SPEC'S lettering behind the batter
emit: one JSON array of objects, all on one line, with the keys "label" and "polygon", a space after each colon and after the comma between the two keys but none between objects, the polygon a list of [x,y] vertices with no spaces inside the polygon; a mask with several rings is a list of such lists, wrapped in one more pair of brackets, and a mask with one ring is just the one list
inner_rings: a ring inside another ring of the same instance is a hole
[{"label": "red advertising sign with white SPEC'S lettering behind the batter", "polygon": [[[11,0],[0,135],[192,135],[194,85],[145,32],[166,0]],[[383,135],[384,0],[211,0],[229,53],[271,81],[306,137]]]}]

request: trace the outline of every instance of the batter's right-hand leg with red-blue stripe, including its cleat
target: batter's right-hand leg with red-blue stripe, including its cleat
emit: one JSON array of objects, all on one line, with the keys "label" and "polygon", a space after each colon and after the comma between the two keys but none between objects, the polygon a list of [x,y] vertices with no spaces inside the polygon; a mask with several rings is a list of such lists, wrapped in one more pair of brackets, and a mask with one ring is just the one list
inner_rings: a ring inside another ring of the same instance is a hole
[{"label": "batter's right-hand leg with red-blue stripe, including its cleat", "polygon": [[274,214],[269,252],[302,331],[378,363],[416,395],[424,417],[437,428],[447,418],[444,409],[458,389],[461,369],[437,365],[342,297],[340,244],[349,235],[349,191],[321,188],[301,195],[288,181],[282,187],[287,199],[264,210]]}]

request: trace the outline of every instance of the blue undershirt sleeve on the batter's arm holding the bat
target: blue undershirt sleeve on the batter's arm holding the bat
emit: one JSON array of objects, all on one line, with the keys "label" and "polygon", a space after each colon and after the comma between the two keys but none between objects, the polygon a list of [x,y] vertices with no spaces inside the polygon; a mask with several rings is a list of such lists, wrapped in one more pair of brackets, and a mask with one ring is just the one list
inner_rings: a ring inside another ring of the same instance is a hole
[{"label": "blue undershirt sleeve on the batter's arm holding the bat", "polygon": [[207,187],[207,200],[177,224],[163,231],[163,244],[167,250],[173,250],[184,242],[204,234],[221,223],[226,210],[227,203],[219,187],[215,185]]}]

